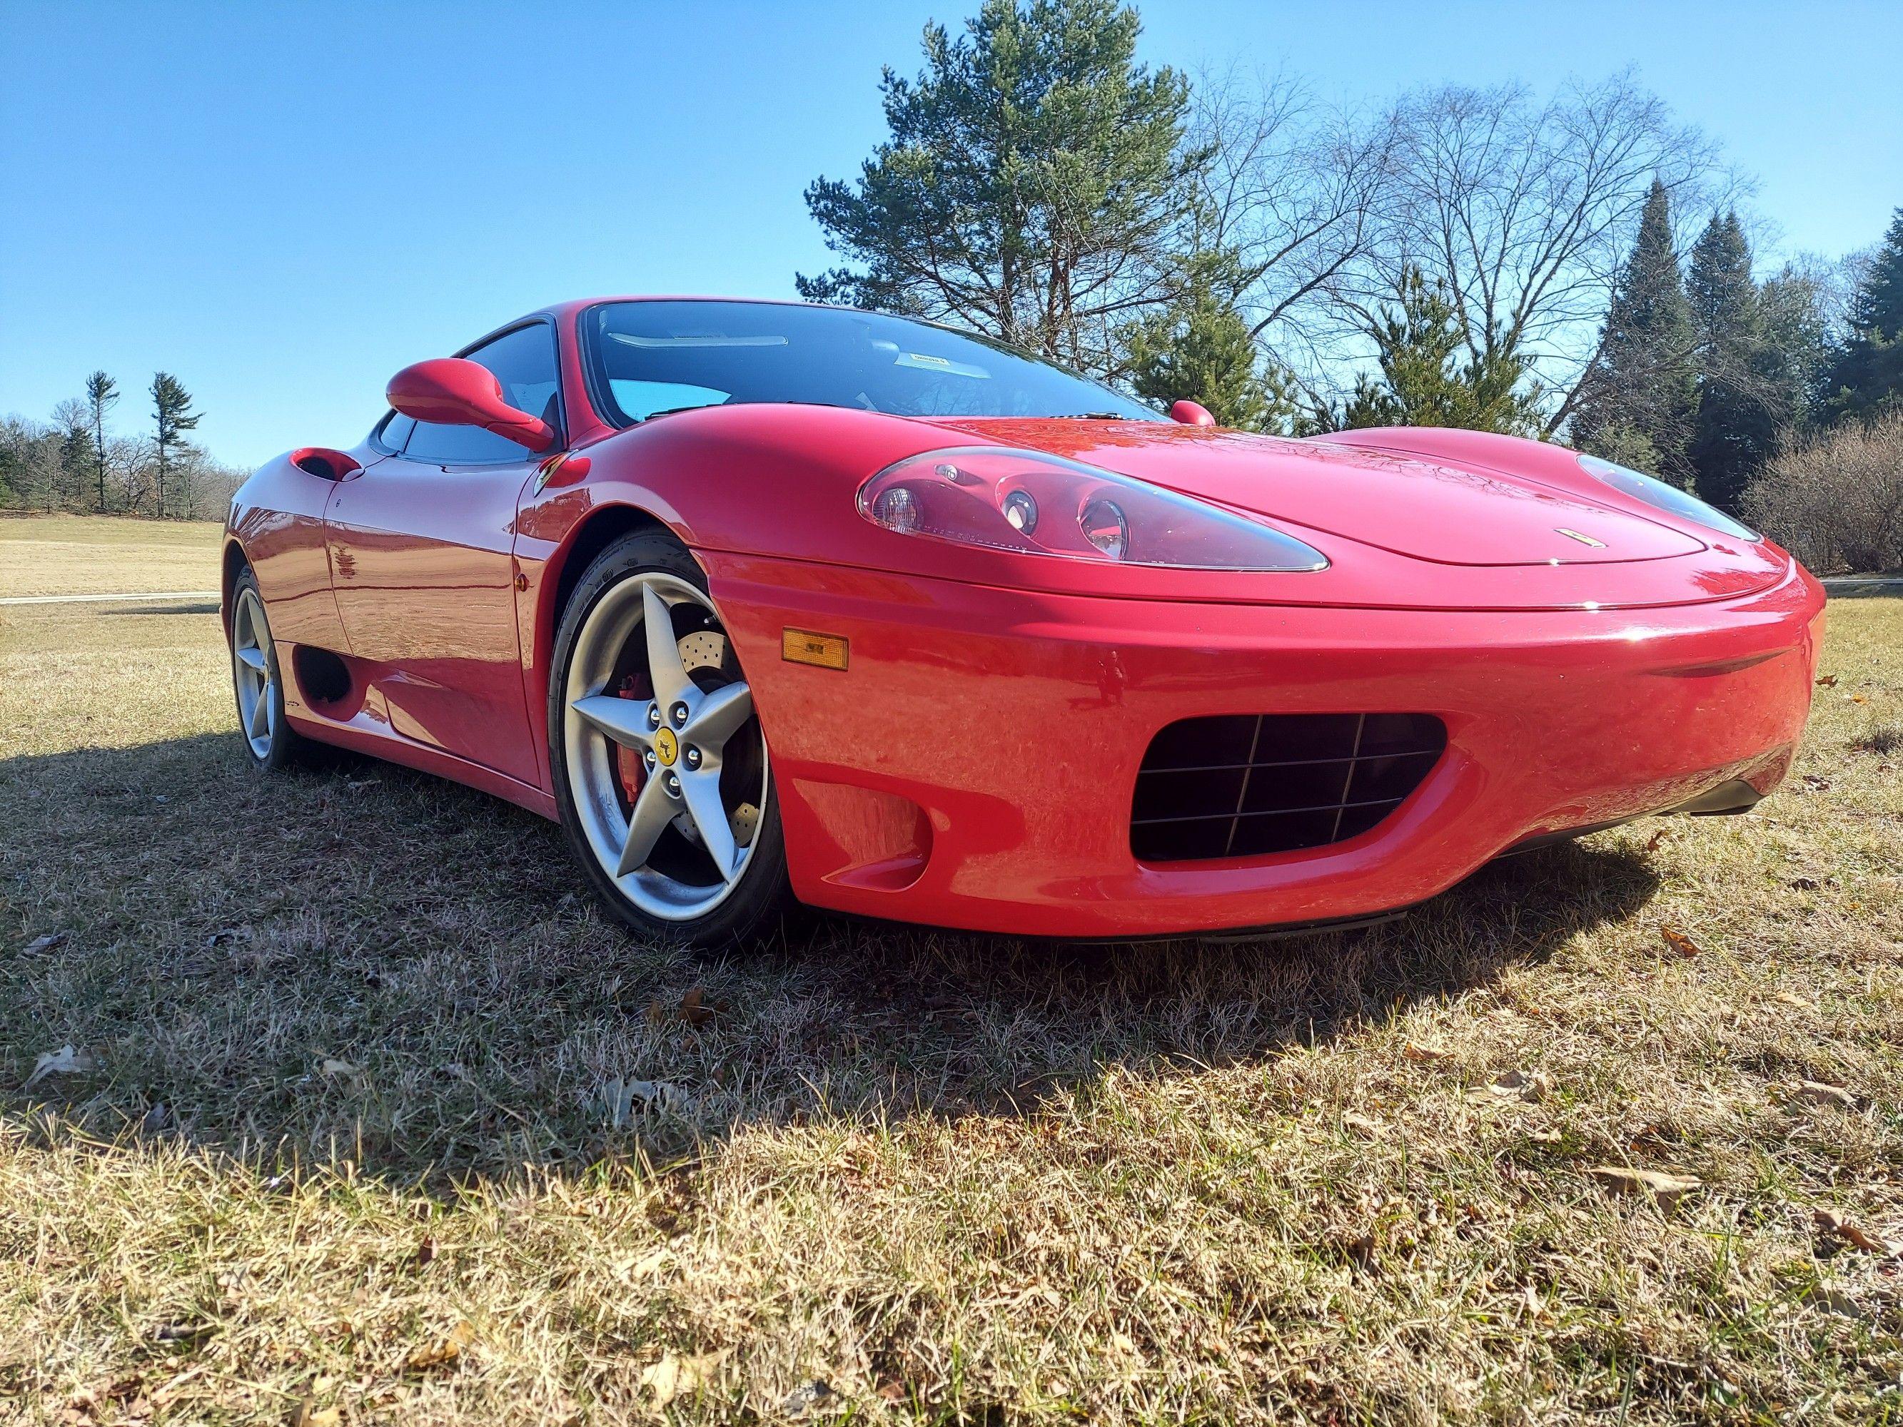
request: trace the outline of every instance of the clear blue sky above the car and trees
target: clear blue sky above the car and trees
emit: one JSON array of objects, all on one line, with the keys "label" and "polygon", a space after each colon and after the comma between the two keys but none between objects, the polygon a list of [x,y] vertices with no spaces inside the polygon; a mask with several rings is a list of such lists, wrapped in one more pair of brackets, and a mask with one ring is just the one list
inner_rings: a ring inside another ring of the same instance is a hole
[{"label": "clear blue sky above the car and trees", "polygon": [[[0,0],[0,411],[166,369],[257,462],[354,443],[398,367],[603,291],[790,297],[801,188],[881,137],[879,67],[976,0]],[[1903,4],[1144,0],[1151,65],[1330,99],[1637,65],[1756,175],[1789,251],[1903,205]]]}]

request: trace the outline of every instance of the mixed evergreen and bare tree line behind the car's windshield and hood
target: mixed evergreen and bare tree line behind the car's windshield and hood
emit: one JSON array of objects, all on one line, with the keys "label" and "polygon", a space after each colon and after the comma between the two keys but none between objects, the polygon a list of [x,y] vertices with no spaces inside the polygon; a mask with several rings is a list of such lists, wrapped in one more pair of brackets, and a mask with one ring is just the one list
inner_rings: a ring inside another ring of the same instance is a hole
[{"label": "mixed evergreen and bare tree line behind the car's windshield and hood", "polygon": [[1115,0],[929,25],[887,139],[805,192],[843,261],[799,291],[1229,426],[1568,441],[1732,512],[1903,422],[1903,209],[1874,251],[1760,274],[1749,183],[1631,74],[1349,108],[1148,68],[1138,32]]}]

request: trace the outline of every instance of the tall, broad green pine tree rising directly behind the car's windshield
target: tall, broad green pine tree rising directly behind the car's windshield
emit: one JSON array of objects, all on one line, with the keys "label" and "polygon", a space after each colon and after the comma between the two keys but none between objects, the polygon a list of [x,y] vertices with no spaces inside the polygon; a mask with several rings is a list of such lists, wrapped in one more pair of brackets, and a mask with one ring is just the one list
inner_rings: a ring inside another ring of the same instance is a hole
[{"label": "tall, broad green pine tree rising directly behind the car's windshield", "polygon": [[1117,331],[1182,293],[1178,255],[1210,152],[1186,143],[1189,88],[1134,63],[1113,0],[986,0],[925,72],[885,70],[891,129],[856,183],[807,209],[858,268],[801,297],[974,327],[1117,375]]}]

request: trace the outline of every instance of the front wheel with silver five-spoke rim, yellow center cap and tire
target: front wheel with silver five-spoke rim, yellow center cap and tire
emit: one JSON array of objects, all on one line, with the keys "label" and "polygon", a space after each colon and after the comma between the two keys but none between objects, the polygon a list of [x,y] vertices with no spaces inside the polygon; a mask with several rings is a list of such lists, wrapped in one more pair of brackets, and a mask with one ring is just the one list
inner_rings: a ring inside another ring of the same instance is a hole
[{"label": "front wheel with silver five-spoke rim, yellow center cap and tire", "polygon": [[767,738],[689,554],[628,535],[582,575],[556,637],[548,753],[569,845],[638,932],[716,946],[786,906]]}]

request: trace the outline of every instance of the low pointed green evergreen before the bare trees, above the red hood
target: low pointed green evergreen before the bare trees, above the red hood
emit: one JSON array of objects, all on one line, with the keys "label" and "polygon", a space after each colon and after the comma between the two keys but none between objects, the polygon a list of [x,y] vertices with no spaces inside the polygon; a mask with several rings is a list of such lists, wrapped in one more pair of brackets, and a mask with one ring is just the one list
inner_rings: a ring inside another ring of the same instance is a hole
[{"label": "low pointed green evergreen before the bare trees, above the red hood", "polygon": [[1374,331],[1382,377],[1361,377],[1355,382],[1355,394],[1336,419],[1338,426],[1465,426],[1513,436],[1538,432],[1540,384],[1532,382],[1522,390],[1526,360],[1515,342],[1503,341],[1500,333],[1488,342],[1469,342],[1446,283],[1429,283],[1420,268],[1404,270],[1397,297],[1399,308],[1383,308]]}]

